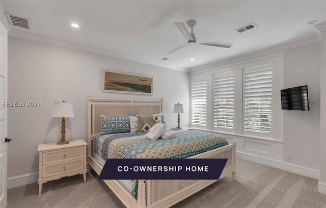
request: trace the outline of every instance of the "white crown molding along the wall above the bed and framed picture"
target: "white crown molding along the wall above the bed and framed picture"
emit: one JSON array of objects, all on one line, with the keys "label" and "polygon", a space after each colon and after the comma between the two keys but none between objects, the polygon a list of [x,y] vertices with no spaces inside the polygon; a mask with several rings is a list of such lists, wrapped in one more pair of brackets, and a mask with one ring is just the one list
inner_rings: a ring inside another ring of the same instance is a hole
[{"label": "white crown molding along the wall above the bed and framed picture", "polygon": [[133,57],[130,55],[125,55],[125,54],[117,54],[117,53],[113,53],[110,51],[97,49],[97,48],[85,46],[82,44],[71,43],[68,41],[62,41],[62,40],[55,39],[55,38],[45,37],[45,36],[41,36],[39,34],[20,31],[17,29],[11,29],[10,32],[8,33],[8,36],[21,38],[21,39],[27,39],[27,40],[31,40],[31,41],[37,41],[37,42],[41,42],[41,43],[47,43],[47,44],[71,48],[71,49],[77,49],[77,50],[81,50],[81,51],[87,51],[87,52],[91,52],[91,53],[111,56],[111,57],[115,57],[115,58],[121,58],[121,59],[125,59],[125,60],[130,60],[130,61],[136,61],[136,62],[140,62],[140,63],[146,63],[146,64],[165,67],[165,68],[171,68],[172,70],[177,70],[177,71],[182,71],[182,72],[189,72],[188,68],[169,65],[169,64],[151,61],[151,60],[138,58],[138,57]]}]

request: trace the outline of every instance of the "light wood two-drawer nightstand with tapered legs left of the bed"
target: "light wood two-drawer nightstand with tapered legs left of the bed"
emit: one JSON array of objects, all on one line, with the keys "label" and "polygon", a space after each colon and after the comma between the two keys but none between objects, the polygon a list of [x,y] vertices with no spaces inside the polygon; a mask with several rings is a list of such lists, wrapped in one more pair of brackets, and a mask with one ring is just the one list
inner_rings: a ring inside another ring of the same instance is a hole
[{"label": "light wood two-drawer nightstand with tapered legs left of the bed", "polygon": [[57,143],[40,144],[39,195],[42,185],[66,176],[84,175],[86,182],[86,146],[84,140],[69,141],[66,145]]}]

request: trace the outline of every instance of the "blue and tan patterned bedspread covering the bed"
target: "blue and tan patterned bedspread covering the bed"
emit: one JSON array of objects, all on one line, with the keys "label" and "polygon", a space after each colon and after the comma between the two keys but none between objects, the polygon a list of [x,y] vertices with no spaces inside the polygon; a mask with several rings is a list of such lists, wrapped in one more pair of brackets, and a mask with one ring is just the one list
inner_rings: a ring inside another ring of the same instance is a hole
[{"label": "blue and tan patterned bedspread covering the bed", "polygon": [[[180,130],[176,137],[149,140],[146,132],[97,134],[93,149],[107,158],[186,158],[228,145],[219,134]],[[138,181],[134,180],[131,194],[137,198]]]}]

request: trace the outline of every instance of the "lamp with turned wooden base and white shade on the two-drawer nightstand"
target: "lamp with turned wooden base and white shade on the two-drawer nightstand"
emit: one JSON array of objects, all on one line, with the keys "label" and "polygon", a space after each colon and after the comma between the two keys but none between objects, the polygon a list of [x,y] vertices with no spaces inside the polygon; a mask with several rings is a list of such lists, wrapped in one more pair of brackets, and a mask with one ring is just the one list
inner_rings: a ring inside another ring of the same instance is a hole
[{"label": "lamp with turned wooden base and white shade on the two-drawer nightstand", "polygon": [[73,114],[72,103],[65,102],[55,102],[55,106],[53,107],[53,111],[51,117],[55,118],[62,118],[61,122],[61,141],[59,141],[58,145],[65,145],[68,144],[69,141],[66,141],[65,134],[66,134],[66,121],[65,118],[68,117],[75,117]]}]

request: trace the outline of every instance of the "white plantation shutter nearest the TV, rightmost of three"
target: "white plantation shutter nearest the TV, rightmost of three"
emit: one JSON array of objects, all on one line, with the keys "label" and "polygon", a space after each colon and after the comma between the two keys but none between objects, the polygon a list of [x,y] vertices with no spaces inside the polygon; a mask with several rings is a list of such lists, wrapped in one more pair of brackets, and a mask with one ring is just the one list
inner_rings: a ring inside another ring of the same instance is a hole
[{"label": "white plantation shutter nearest the TV, rightmost of three", "polygon": [[273,65],[244,68],[244,131],[272,133]]}]

